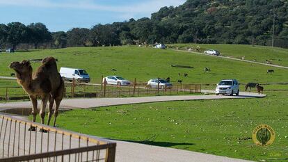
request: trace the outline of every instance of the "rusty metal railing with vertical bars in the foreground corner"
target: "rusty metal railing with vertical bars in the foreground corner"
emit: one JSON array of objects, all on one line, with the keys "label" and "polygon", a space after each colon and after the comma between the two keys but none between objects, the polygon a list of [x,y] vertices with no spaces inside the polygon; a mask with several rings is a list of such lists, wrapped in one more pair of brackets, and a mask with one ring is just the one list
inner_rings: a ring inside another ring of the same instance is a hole
[{"label": "rusty metal railing with vertical bars in the foreground corner", "polygon": [[116,143],[108,140],[9,115],[0,115],[0,127],[0,162],[115,161]]}]

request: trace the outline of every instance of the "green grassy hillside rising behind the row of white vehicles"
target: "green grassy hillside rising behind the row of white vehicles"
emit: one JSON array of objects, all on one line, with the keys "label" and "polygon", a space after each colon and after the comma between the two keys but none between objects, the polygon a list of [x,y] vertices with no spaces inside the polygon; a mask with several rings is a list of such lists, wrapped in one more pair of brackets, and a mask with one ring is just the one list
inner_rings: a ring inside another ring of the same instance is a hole
[{"label": "green grassy hillside rising behind the row of white vehicles", "polygon": [[[182,44],[180,44],[182,45]],[[185,45],[186,46],[186,45]],[[223,54],[242,56],[246,54],[243,45],[202,45],[202,48],[215,48]],[[254,47],[253,47],[254,48]],[[267,47],[255,47],[251,54],[256,60],[280,58],[288,63],[285,49],[269,49],[275,53],[262,56]],[[248,49],[247,49],[248,50]],[[247,53],[248,54],[248,53]],[[277,55],[277,56],[276,56]],[[121,75],[129,80],[148,81],[155,77],[168,77],[172,81],[183,79],[184,83],[217,83],[221,79],[239,79],[240,83],[257,81],[259,83],[283,82],[288,80],[285,69],[242,63],[236,60],[213,58],[199,54],[173,51],[170,49],[152,49],[147,47],[74,47],[67,49],[36,50],[16,52],[15,54],[0,54],[0,75],[9,76],[13,70],[8,69],[12,61],[29,60],[54,56],[58,58],[58,68],[78,67],[86,69],[92,81],[99,83],[101,76],[111,74]],[[276,57],[274,57],[276,56]],[[248,56],[247,56],[248,57]],[[32,63],[34,70],[40,63]],[[193,69],[171,67],[171,65],[190,65]],[[204,72],[204,67],[210,67],[211,72]],[[117,71],[112,71],[115,69]],[[275,70],[274,74],[266,74],[266,70]],[[178,73],[181,76],[178,76]],[[183,74],[188,73],[188,77]]]}]

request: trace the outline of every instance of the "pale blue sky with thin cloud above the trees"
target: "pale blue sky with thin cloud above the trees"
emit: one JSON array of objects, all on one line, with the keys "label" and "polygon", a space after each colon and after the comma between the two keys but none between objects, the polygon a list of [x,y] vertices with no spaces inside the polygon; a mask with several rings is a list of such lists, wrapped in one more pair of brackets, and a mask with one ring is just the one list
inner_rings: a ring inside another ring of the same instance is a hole
[{"label": "pale blue sky with thin cloud above the trees", "polygon": [[163,6],[186,0],[0,0],[0,24],[42,22],[49,31],[150,17]]}]

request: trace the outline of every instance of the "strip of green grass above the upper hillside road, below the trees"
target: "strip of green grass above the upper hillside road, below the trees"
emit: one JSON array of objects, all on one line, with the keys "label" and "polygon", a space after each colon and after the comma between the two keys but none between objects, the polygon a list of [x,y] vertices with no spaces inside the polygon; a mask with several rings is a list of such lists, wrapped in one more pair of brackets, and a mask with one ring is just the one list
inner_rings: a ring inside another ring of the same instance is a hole
[{"label": "strip of green grass above the upper hillside road, below the trees", "polygon": [[240,44],[171,44],[174,48],[189,49],[200,46],[200,52],[207,49],[216,49],[222,56],[230,56],[245,60],[256,60],[259,63],[266,63],[271,60],[272,64],[288,66],[288,49],[271,48],[263,46],[240,45]]}]

